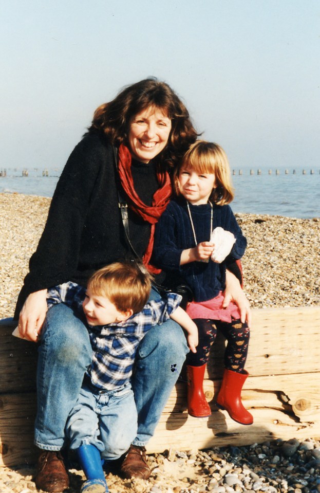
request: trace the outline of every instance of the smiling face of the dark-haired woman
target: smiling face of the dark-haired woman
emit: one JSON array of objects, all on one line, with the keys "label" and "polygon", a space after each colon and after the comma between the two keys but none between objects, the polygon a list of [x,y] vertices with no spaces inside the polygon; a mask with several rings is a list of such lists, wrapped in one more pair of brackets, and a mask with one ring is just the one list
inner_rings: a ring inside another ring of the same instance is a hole
[{"label": "smiling face of the dark-haired woman", "polygon": [[161,109],[149,107],[138,113],[129,126],[129,150],[141,162],[149,162],[165,148],[171,120]]}]

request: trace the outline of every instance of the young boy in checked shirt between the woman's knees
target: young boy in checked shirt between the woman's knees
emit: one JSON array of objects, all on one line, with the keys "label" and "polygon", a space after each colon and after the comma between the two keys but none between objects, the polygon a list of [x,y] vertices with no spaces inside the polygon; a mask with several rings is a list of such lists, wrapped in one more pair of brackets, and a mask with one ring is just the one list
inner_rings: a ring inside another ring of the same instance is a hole
[{"label": "young boy in checked shirt between the woman's knees", "polygon": [[114,263],[93,274],[87,289],[68,282],[48,291],[47,304],[65,303],[88,324],[92,362],[66,425],[70,448],[77,450],[87,481],[82,493],[108,491],[101,458],[115,460],[127,451],[137,432],[137,410],[130,376],[140,340],[169,317],[187,333],[196,352],[195,323],[179,307],[181,297],[147,302],[149,273],[134,262]]}]

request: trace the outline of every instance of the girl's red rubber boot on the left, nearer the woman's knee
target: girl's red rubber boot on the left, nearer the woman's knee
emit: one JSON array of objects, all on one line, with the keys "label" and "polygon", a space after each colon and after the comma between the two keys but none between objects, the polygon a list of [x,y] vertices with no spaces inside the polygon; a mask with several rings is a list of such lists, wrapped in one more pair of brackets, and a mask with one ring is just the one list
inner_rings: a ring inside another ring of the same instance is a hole
[{"label": "girl's red rubber boot on the left, nearer the woman's knee", "polygon": [[211,416],[211,409],[203,393],[203,377],[206,364],[201,367],[186,367],[188,382],[188,413],[194,417]]}]

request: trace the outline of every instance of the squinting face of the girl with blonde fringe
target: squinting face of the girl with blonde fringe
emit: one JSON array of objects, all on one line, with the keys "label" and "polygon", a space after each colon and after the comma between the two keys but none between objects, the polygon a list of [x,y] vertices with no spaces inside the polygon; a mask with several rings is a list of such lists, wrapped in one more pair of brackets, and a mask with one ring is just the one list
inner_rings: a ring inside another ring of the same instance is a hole
[{"label": "squinting face of the girl with blonde fringe", "polygon": [[184,198],[198,206],[208,203],[212,189],[215,188],[214,173],[200,173],[194,168],[181,166],[179,177],[179,190]]}]

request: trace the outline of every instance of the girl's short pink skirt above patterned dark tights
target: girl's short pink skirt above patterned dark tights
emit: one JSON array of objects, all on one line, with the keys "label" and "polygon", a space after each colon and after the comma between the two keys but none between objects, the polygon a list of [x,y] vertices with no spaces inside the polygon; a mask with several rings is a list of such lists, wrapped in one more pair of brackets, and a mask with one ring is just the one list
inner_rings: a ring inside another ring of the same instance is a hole
[{"label": "girl's short pink skirt above patterned dark tights", "polygon": [[186,313],[192,319],[208,318],[210,320],[221,320],[221,322],[232,322],[240,318],[238,306],[231,301],[227,308],[222,308],[224,297],[222,291],[208,301],[196,302],[192,301],[186,308]]}]

